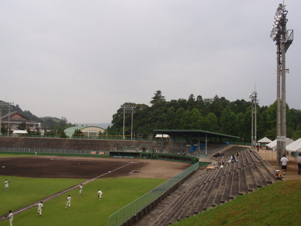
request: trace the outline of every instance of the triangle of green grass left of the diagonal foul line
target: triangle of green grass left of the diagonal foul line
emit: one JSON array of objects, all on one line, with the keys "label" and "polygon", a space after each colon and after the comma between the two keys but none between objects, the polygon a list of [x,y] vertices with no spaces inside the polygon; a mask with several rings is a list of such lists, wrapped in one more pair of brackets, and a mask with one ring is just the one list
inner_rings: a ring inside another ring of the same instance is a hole
[{"label": "triangle of green grass left of the diagonal foul line", "polygon": [[[8,179],[9,190],[5,190],[4,181]],[[0,216],[8,210],[15,210],[39,199],[57,193],[85,179],[57,179],[57,178],[26,178],[0,175]]]}]

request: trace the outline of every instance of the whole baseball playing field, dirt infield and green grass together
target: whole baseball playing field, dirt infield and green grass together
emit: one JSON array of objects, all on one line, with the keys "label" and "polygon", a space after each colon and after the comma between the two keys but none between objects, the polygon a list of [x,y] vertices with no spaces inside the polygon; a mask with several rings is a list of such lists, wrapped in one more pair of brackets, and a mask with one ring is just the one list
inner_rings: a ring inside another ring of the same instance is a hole
[{"label": "whole baseball playing field, dirt infield and green grass together", "polygon": [[[3,157],[3,155],[1,156]],[[6,156],[5,156],[6,157]],[[0,158],[0,215],[12,210],[13,225],[107,225],[109,215],[190,164],[145,159],[71,156]],[[5,167],[3,167],[5,166]],[[10,180],[9,190],[4,181]],[[79,196],[78,185],[83,184]],[[103,192],[98,198],[98,189]],[[71,208],[65,209],[70,194]],[[43,200],[42,217],[37,203]],[[8,221],[0,217],[0,226]]]}]

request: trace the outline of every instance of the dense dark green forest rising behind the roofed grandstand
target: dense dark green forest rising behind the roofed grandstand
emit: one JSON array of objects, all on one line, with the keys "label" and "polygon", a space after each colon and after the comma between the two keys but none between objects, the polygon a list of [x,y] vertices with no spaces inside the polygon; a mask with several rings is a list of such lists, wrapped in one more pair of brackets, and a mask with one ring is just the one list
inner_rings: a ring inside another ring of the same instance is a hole
[{"label": "dense dark green forest rising behind the roofed grandstand", "polygon": [[[225,97],[214,96],[203,99],[191,94],[188,99],[166,101],[160,90],[154,93],[150,104],[137,105],[133,117],[133,131],[139,136],[154,134],[154,129],[199,129],[225,133],[241,137],[241,141],[251,140],[251,105],[244,99],[230,102]],[[126,113],[125,133],[131,133],[131,114]],[[113,115],[109,135],[122,135],[123,110],[119,108]],[[287,137],[298,139],[301,135],[301,110],[287,105]],[[269,106],[257,105],[257,137],[276,137],[276,102]]]}]

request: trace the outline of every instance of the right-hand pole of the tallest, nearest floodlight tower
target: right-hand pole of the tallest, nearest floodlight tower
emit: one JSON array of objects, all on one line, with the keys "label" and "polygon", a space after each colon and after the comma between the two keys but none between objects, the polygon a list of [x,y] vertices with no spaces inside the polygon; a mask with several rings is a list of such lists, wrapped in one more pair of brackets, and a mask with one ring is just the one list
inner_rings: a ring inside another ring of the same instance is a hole
[{"label": "right-hand pole of the tallest, nearest floodlight tower", "polygon": [[285,98],[285,33],[286,15],[281,26],[281,154],[286,154],[286,98]]}]

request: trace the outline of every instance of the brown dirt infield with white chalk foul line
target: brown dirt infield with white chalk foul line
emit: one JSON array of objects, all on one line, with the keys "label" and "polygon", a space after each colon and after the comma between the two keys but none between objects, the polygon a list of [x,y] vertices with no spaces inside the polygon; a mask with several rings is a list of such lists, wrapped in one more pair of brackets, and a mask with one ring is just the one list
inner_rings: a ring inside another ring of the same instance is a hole
[{"label": "brown dirt infield with white chalk foul line", "polygon": [[34,156],[1,158],[0,175],[82,179],[92,179],[102,175],[102,178],[149,177],[169,179],[189,166],[191,165],[187,163],[163,160]]}]

